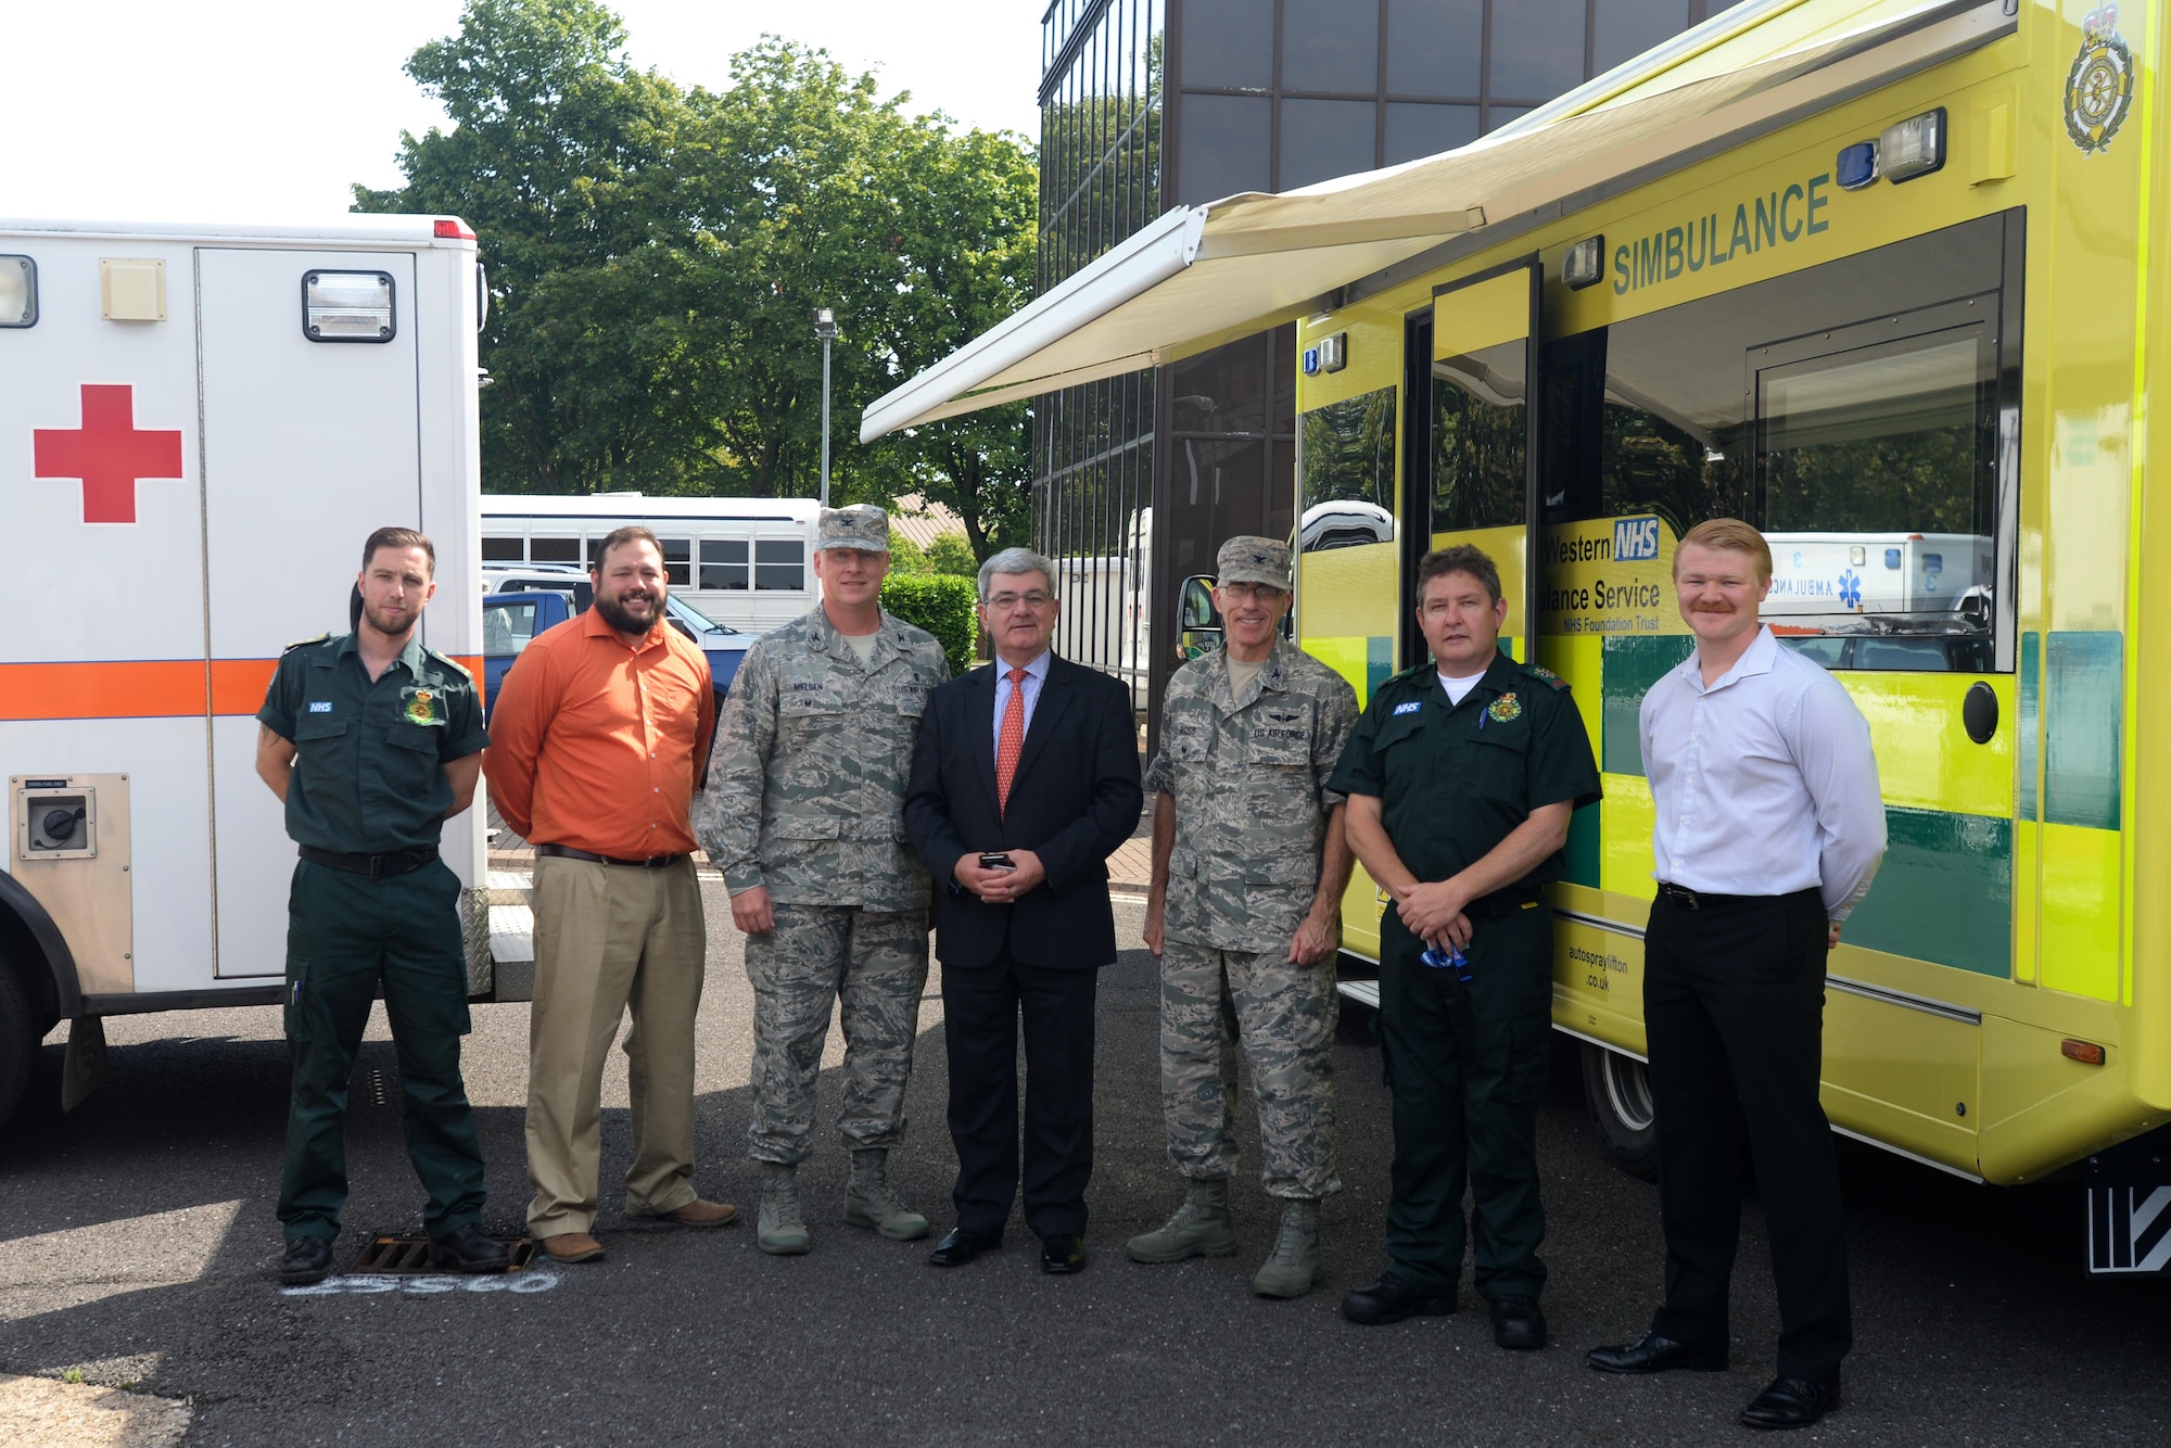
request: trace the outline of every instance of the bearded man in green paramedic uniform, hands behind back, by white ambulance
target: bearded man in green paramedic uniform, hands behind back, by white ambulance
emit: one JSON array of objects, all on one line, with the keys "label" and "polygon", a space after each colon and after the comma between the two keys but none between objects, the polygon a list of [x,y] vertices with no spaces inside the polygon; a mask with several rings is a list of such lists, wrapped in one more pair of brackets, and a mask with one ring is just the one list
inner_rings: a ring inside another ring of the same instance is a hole
[{"label": "bearded man in green paramedic uniform, hands behind back, by white ambulance", "polygon": [[282,1283],[321,1281],[332,1263],[347,1201],[347,1077],[380,986],[408,1159],[430,1196],[430,1261],[508,1266],[478,1227],[482,1144],[460,1081],[460,879],[436,855],[443,823],[475,801],[488,740],[467,671],[415,636],[434,569],[436,549],[412,528],[369,534],[354,632],[287,649],[256,714],[256,773],[287,803],[287,834],[302,847],[287,905]]}]

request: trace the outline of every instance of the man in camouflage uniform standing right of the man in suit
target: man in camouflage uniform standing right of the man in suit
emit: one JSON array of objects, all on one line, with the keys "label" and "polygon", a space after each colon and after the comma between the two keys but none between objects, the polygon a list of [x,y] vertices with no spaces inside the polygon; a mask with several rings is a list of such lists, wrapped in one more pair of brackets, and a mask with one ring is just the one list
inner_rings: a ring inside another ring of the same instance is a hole
[{"label": "man in camouflage uniform standing right of the man in suit", "polygon": [[1190,1179],[1131,1261],[1229,1257],[1231,1101],[1242,1027],[1259,1098],[1264,1183],[1281,1237],[1253,1279],[1294,1298],[1320,1272],[1320,1198],[1335,1179],[1335,947],[1350,851],[1326,775],[1357,723],[1357,693],[1279,636],[1290,547],[1231,538],[1214,604],[1224,647],[1168,682],[1153,792],[1146,944],[1161,957],[1161,1109]]}]

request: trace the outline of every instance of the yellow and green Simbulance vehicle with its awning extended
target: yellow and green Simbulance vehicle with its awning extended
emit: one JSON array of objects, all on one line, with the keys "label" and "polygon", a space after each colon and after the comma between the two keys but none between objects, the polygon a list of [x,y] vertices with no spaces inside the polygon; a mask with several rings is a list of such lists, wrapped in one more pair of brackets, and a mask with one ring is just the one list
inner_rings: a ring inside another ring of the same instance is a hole
[{"label": "yellow and green Simbulance vehicle with its awning extended", "polygon": [[[1461,152],[1170,213],[862,432],[1294,319],[1303,645],[1368,697],[1422,658],[1418,558],[1476,543],[1583,708],[1554,1023],[1643,1168],[1637,708],[1689,651],[1676,541],[1754,521],[1889,812],[1832,1125],[1991,1183],[2082,1164],[2091,1268],[2164,1270],[2167,9],[1748,0]],[[1359,877],[1350,951],[1379,916]]]}]

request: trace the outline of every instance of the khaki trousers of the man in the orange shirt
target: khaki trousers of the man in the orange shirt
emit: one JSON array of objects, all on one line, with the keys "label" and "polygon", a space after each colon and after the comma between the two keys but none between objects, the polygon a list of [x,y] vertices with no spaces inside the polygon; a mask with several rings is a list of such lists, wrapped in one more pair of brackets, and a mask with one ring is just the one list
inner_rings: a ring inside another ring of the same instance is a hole
[{"label": "khaki trousers of the man in the orange shirt", "polygon": [[708,933],[693,860],[640,871],[538,855],[536,999],[528,1018],[528,1231],[595,1229],[604,1059],[625,1009],[634,1166],[625,1211],[658,1216],[693,1190],[693,1025]]}]

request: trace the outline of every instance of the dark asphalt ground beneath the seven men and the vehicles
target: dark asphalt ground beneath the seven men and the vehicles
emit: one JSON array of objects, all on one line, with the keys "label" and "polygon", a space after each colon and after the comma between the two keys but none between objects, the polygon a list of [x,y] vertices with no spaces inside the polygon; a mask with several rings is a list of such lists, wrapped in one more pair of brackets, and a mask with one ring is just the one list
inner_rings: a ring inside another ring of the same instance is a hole
[{"label": "dark asphalt ground beneath the seven men and the vehicles", "polygon": [[[72,1116],[48,1046],[39,1101],[0,1138],[0,1372],[80,1370],[189,1398],[189,1444],[1702,1444],[1752,1437],[1732,1418],[1769,1376],[1776,1309],[1748,1190],[1735,1283],[1735,1370],[1609,1379],[1583,1350],[1635,1337],[1659,1294],[1654,1190],[1613,1170],[1591,1129],[1572,1042],[1554,1051],[1539,1127],[1552,1220],[1554,1346],[1511,1355],[1468,1283],[1452,1318],[1359,1329],[1346,1290],[1379,1272],[1387,1098],[1361,1012],[1337,1044],[1342,1177],[1324,1207],[1326,1279],[1296,1303],[1253,1298],[1277,1211],[1259,1192],[1255,1118],[1240,1120],[1231,1198],[1242,1253],[1142,1268],[1122,1240],[1181,1198],[1161,1146],[1153,962],[1101,979],[1096,1168],[1088,1270],[1042,1276],[1012,1220],[970,1268],[925,1263],[842,1224],[849,1168],[823,1129],[801,1168],[814,1250],[753,1246],[745,1159],[749,990],[721,886],[701,1007],[697,1133],[703,1196],[747,1222],[634,1224],[625,1064],[604,1112],[610,1255],[506,1279],[332,1279],[282,1292],[274,1194],[287,1094],[276,1007],[109,1020],[113,1079]],[[1118,903],[1135,940],[1140,910]],[[940,1233],[953,1157],[940,999],[929,986],[912,1138],[892,1181]],[[469,1092],[482,1120],[486,1227],[515,1235],[528,1201],[521,1101],[528,1007],[475,1009]],[[840,1038],[823,1059],[836,1112]],[[354,1196],[337,1263],[369,1233],[419,1231],[382,1012],[350,1112]],[[2080,1270],[2071,1190],[1971,1185],[1841,1142],[1858,1346],[1845,1407],[1804,1444],[2164,1444],[2171,1283]]]}]

